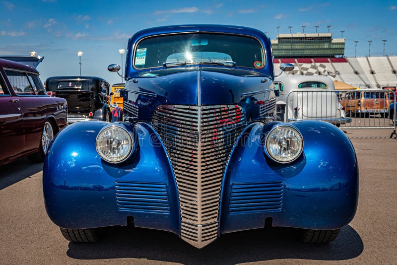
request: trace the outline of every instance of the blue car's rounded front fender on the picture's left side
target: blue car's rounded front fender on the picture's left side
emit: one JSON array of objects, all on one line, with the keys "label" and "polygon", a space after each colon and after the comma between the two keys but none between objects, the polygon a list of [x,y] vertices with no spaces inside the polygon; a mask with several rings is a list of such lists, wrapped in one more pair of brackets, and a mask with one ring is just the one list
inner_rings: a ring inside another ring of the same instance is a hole
[{"label": "blue car's rounded front fender on the picture's left side", "polygon": [[107,125],[75,123],[53,140],[43,169],[48,216],[70,229],[126,225],[132,217],[137,227],[179,235],[175,177],[158,135],[147,124],[135,124],[139,146],[126,163],[115,165],[102,160],[95,148]]}]

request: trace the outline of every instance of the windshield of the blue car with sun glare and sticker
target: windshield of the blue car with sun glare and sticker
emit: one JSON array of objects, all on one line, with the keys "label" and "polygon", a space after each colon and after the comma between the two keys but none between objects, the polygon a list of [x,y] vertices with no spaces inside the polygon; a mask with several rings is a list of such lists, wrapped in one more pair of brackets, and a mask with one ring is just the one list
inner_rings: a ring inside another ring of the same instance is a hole
[{"label": "windshield of the blue car with sun glare and sticker", "polygon": [[262,45],[254,38],[224,34],[178,34],[141,41],[136,47],[138,69],[194,63],[235,62],[236,66],[263,68]]}]

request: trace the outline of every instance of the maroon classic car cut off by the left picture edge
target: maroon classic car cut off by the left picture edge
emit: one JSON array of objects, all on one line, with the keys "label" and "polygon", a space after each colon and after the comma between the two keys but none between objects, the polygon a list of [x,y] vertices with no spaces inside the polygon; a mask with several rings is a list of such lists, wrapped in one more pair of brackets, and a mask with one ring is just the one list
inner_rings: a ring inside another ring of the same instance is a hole
[{"label": "maroon classic car cut off by the left picture edge", "polygon": [[31,66],[0,59],[0,165],[22,156],[42,161],[67,124],[67,103],[48,96]]}]

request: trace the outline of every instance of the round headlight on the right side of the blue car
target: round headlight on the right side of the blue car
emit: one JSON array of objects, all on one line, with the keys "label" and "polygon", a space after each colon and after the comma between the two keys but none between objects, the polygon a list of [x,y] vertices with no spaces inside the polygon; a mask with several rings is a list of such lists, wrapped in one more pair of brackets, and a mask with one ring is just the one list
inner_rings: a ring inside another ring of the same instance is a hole
[{"label": "round headlight on the right side of the blue car", "polygon": [[278,163],[297,159],[303,150],[302,135],[292,126],[276,126],[265,137],[267,155]]}]

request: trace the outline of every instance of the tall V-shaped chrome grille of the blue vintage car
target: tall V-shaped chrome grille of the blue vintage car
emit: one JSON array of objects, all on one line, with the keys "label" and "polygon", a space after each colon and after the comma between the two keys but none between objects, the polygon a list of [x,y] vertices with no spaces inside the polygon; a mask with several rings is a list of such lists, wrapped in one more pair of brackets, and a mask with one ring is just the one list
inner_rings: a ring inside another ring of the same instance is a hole
[{"label": "tall V-shaped chrome grille of the blue vintage car", "polygon": [[237,105],[157,107],[152,126],[175,173],[181,237],[201,248],[218,236],[222,178],[230,152],[246,127]]}]

